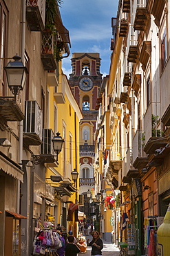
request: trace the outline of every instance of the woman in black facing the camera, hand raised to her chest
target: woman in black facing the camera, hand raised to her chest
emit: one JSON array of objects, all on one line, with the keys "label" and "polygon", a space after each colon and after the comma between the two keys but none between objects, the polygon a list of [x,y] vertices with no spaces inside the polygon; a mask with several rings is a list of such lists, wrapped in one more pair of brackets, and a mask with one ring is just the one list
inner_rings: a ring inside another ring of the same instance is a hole
[{"label": "woman in black facing the camera, hand raised to her chest", "polygon": [[102,255],[102,249],[103,249],[103,241],[99,237],[98,231],[92,232],[92,241],[89,242],[89,238],[87,239],[87,246],[92,246],[92,252],[91,255],[100,256]]}]

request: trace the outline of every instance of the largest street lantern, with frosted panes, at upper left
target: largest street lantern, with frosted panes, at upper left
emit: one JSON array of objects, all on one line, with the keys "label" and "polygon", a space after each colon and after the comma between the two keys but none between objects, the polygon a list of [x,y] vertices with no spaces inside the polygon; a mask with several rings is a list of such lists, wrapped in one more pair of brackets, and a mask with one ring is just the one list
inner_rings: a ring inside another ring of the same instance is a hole
[{"label": "largest street lantern, with frosted panes, at upper left", "polygon": [[23,66],[23,62],[21,62],[21,57],[19,57],[19,55],[15,55],[12,59],[14,62],[8,62],[7,66],[4,66],[3,68],[6,71],[10,91],[12,91],[12,94],[17,95],[23,90],[28,69]]}]

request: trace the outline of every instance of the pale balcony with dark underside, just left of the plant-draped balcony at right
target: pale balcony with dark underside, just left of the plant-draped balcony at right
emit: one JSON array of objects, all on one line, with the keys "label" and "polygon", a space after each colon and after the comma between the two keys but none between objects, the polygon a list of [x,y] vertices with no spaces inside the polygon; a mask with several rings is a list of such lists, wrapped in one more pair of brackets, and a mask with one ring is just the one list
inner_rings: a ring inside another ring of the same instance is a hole
[{"label": "pale balcony with dark underside, just left of the plant-draped balcony at right", "polygon": [[132,141],[133,145],[133,166],[136,169],[144,168],[149,162],[149,158],[144,152],[145,133],[142,130],[137,130]]}]

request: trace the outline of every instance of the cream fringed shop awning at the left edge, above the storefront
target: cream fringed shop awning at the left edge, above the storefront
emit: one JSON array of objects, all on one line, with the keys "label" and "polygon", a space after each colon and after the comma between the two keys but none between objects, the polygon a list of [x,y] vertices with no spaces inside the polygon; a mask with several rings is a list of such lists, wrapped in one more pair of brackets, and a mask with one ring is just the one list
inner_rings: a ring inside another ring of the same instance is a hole
[{"label": "cream fringed shop awning at the left edge, above the storefront", "polygon": [[0,170],[18,179],[23,183],[23,171],[21,167],[0,151]]}]

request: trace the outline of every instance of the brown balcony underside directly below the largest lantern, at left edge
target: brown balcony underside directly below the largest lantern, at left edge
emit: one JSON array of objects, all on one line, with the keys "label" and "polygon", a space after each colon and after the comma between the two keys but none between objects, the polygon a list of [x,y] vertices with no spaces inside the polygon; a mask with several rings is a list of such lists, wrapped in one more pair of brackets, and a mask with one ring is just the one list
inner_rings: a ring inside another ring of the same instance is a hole
[{"label": "brown balcony underside directly below the largest lantern, at left edge", "polygon": [[24,119],[23,112],[14,97],[0,97],[0,118],[12,122],[20,122]]}]

